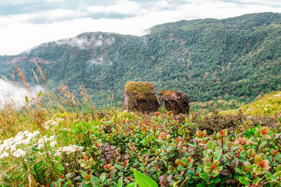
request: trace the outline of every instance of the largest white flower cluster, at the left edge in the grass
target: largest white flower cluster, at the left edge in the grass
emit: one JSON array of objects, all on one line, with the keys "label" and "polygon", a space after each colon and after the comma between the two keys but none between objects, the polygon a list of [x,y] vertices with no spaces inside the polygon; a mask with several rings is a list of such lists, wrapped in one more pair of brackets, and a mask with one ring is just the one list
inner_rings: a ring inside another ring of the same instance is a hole
[{"label": "largest white flower cluster, at the left edge in the grass", "polygon": [[39,131],[25,131],[19,132],[15,137],[5,139],[3,144],[0,144],[0,159],[8,157],[10,153],[16,158],[22,157],[25,155],[25,151],[22,151],[22,149],[18,148],[18,146],[30,144],[32,139],[37,137],[38,134],[40,134]]}]

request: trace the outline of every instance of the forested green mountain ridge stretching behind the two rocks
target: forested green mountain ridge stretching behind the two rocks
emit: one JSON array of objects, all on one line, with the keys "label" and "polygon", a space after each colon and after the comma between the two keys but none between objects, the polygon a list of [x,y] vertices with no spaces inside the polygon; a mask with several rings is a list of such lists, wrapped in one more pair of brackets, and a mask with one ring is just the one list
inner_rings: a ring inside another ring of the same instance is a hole
[{"label": "forested green mountain ridge stretching behind the two rocks", "polygon": [[77,95],[83,84],[94,102],[115,95],[115,104],[122,102],[126,81],[183,90],[192,102],[249,102],[281,84],[280,13],[182,20],[149,31],[145,36],[89,32],[43,43],[20,55],[1,56],[0,74],[12,79],[16,63],[36,83],[32,69],[39,75],[37,62],[51,88],[68,85]]}]

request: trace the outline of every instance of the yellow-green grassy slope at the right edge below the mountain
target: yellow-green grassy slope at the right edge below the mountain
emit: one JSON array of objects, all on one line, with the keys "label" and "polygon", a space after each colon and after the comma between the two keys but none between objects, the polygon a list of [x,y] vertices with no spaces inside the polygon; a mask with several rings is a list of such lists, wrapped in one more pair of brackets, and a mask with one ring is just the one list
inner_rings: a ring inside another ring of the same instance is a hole
[{"label": "yellow-green grassy slope at the right edge below the mountain", "polygon": [[239,110],[242,110],[244,114],[274,117],[276,113],[281,113],[281,91],[271,92],[255,102],[223,113],[237,113]]}]

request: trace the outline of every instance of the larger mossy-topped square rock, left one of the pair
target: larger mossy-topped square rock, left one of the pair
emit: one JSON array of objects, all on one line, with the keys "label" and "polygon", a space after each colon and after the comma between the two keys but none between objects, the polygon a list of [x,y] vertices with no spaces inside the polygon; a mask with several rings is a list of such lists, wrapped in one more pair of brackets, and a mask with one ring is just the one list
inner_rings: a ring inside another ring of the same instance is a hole
[{"label": "larger mossy-topped square rock, left one of the pair", "polygon": [[153,112],[159,107],[155,89],[148,82],[127,82],[123,96],[123,109],[127,111]]}]

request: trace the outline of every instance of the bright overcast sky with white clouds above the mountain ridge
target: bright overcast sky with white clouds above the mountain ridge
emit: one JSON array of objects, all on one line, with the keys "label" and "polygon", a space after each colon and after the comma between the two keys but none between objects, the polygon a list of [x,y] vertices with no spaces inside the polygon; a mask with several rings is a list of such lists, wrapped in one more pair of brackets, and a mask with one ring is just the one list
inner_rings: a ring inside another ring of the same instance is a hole
[{"label": "bright overcast sky with white clouds above the mountain ridge", "polygon": [[281,13],[281,0],[0,0],[0,55],[82,32],[143,35],[164,22]]}]

